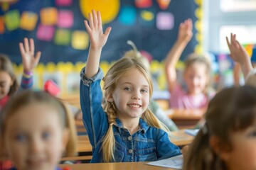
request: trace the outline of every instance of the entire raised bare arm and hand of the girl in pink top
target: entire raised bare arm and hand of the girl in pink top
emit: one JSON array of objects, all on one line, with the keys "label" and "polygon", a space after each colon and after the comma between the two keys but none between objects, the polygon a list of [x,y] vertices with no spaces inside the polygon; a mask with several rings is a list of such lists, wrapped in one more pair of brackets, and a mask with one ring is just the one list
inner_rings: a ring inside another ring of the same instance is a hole
[{"label": "entire raised bare arm and hand of the girl in pink top", "polygon": [[193,36],[193,24],[191,19],[187,19],[180,24],[178,28],[178,38],[174,43],[174,46],[171,47],[168,55],[165,60],[165,70],[166,70],[166,79],[169,87],[169,92],[171,93],[174,90],[176,84],[176,69],[175,66],[181,57],[183,50],[185,49],[188,42]]}]

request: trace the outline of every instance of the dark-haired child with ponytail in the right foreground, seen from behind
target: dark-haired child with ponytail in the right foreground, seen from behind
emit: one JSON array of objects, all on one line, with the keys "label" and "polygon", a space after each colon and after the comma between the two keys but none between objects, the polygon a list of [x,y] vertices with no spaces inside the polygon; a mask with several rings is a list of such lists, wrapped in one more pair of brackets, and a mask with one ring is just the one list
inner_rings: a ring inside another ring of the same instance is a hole
[{"label": "dark-haired child with ponytail in the right foreground, seen from behind", "polygon": [[184,156],[183,169],[256,169],[255,108],[253,86],[233,86],[216,94],[206,124]]}]

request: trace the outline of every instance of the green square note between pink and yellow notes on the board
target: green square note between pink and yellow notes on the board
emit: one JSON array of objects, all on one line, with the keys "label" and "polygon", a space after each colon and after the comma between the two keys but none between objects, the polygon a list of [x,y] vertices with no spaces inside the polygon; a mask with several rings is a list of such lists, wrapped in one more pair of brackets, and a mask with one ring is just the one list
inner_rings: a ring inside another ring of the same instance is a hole
[{"label": "green square note between pink and yellow notes on the board", "polygon": [[54,42],[56,45],[69,45],[70,43],[70,30],[58,29],[56,30]]}]

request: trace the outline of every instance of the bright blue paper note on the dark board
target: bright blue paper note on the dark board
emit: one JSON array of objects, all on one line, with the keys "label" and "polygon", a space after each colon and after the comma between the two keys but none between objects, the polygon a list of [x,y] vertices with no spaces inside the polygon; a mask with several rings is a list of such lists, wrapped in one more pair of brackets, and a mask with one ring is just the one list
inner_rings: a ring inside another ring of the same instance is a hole
[{"label": "bright blue paper note on the dark board", "polygon": [[133,6],[124,6],[119,14],[119,22],[127,25],[132,26],[137,18],[136,9]]}]

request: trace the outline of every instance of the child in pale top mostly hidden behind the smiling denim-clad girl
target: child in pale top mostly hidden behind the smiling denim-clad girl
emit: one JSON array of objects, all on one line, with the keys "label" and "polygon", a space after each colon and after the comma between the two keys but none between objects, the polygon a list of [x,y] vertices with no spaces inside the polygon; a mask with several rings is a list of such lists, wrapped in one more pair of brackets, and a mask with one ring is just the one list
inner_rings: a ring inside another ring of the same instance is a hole
[{"label": "child in pale top mostly hidden behind the smiling denim-clad girl", "polygon": [[[142,56],[142,54],[137,50],[137,47],[134,45],[134,42],[131,40],[128,40],[127,43],[132,46],[133,50],[129,50],[124,53],[124,57],[128,58],[134,58],[137,60],[141,60],[142,63],[145,65],[146,69],[150,72],[150,64],[149,60],[146,59],[146,57]],[[171,131],[177,131],[178,127],[175,125],[175,123],[164,113],[164,111],[160,108],[160,106],[154,101],[154,99],[151,98],[149,103],[149,110],[156,115],[156,118],[158,118],[164,125],[166,125],[167,128]]]}]

